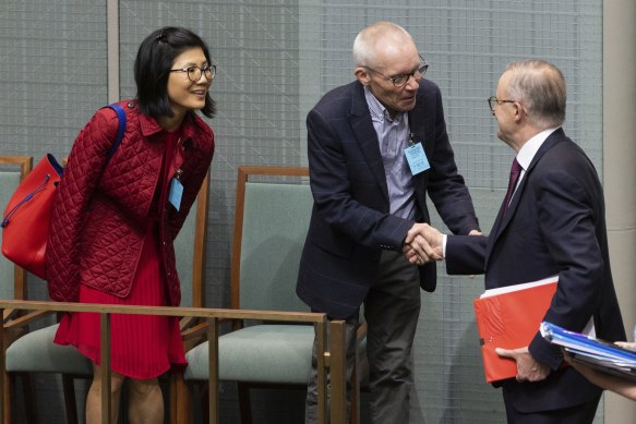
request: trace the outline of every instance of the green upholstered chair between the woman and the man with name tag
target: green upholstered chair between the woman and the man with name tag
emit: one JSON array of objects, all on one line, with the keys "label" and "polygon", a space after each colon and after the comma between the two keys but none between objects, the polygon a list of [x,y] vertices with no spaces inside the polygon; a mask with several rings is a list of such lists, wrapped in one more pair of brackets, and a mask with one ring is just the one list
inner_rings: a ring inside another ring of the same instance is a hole
[{"label": "green upholstered chair between the woman and the man with name tag", "polygon": [[[296,295],[296,279],[312,205],[307,168],[239,167],[232,308],[309,312]],[[242,423],[251,422],[251,387],[307,388],[313,338],[311,325],[261,322],[235,322],[219,337],[219,379],[237,381]],[[205,384],[207,342],[185,356],[185,381]]]}]

